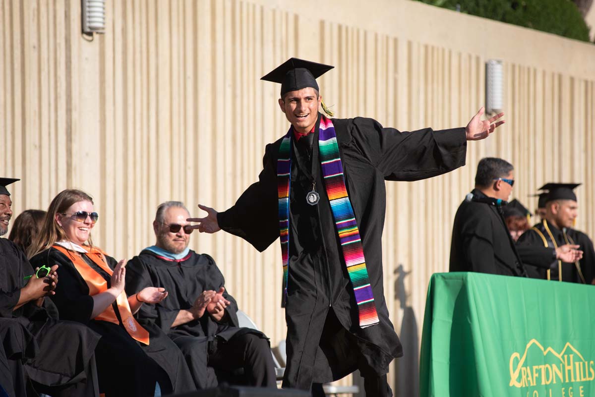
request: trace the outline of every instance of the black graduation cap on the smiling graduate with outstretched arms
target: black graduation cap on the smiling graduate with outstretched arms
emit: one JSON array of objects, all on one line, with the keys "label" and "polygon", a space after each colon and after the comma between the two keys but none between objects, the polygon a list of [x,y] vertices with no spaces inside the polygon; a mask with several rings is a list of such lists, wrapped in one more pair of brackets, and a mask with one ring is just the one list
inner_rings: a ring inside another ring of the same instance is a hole
[{"label": "black graduation cap on the smiling graduate with outstretched arms", "polygon": [[287,92],[301,90],[306,87],[312,87],[320,91],[316,79],[332,68],[334,66],[318,64],[317,62],[305,61],[299,58],[289,58],[269,74],[261,77],[261,80],[280,83],[281,96]]}]

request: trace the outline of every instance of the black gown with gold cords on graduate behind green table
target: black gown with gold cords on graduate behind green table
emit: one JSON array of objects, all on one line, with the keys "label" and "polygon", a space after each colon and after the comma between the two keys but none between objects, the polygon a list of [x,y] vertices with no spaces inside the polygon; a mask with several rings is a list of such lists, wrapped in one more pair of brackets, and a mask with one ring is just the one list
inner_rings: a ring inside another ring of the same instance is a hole
[{"label": "black gown with gold cords on graduate behind green table", "polygon": [[[566,231],[563,231],[563,230],[556,228],[556,226],[554,226],[553,223],[547,222],[547,220],[545,220],[544,222],[547,223],[547,226],[548,226],[550,232],[552,232],[552,237],[554,238],[557,247],[560,247],[560,245],[567,244],[567,242],[566,242],[567,239],[568,239],[568,243],[572,243],[572,241],[575,241],[574,238],[577,238],[581,242],[583,242],[583,244],[577,243],[577,244],[581,245],[581,249],[584,246],[585,248],[587,248],[587,251],[588,251],[588,248],[589,248],[588,243],[585,242],[583,240],[583,237],[580,236],[580,234],[579,234],[580,232],[577,233],[577,231],[574,231],[573,229],[568,229]],[[538,229],[539,232],[537,232],[535,229]],[[566,238],[565,238],[565,233],[566,233]],[[544,242],[543,238],[546,239],[545,242]],[[588,237],[587,237],[587,240],[588,240]],[[533,228],[524,232],[521,235],[521,237],[519,237],[517,244],[519,246],[530,246],[530,247],[545,247],[546,244],[547,244],[547,247],[549,247],[549,248],[554,248],[554,246],[555,246],[553,244],[552,238],[547,233],[547,230],[546,230],[543,222],[537,223],[535,226],[533,226]],[[592,250],[593,250],[592,244],[591,244],[590,248],[591,248],[591,252],[592,252]],[[589,259],[589,257],[591,259]],[[587,283],[591,283],[591,281],[593,280],[593,265],[592,265],[593,262],[591,262],[591,266],[589,263],[589,260],[593,260],[592,258],[593,258],[593,256],[590,256],[589,254],[587,254],[587,258],[584,257],[583,259],[578,261],[578,267],[580,267],[581,273],[583,273],[583,277],[585,278],[585,282],[587,282]],[[583,280],[581,279],[581,276],[577,269],[577,264],[567,263],[567,262],[561,262],[561,264],[562,264],[562,281],[583,283]],[[547,268],[527,266],[527,273],[531,278],[547,279],[547,269],[550,269],[550,279],[557,281],[557,280],[559,280],[558,268],[559,268],[559,261],[556,260],[555,257],[553,257],[550,260],[550,265]]]}]

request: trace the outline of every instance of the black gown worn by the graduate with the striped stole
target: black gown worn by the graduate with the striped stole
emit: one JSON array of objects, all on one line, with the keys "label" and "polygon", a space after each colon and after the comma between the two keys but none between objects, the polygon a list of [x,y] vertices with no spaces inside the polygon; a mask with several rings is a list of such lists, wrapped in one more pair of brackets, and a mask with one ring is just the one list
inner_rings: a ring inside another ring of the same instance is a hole
[{"label": "black gown worn by the graduate with the striped stole", "polygon": [[[320,156],[315,156],[319,115],[312,146],[294,143],[292,151],[285,305],[288,362],[283,387],[307,390],[313,382],[340,379],[358,367],[367,367],[368,373],[381,376],[387,373],[393,358],[403,354],[384,301],[384,181],[430,178],[465,164],[463,128],[402,133],[383,128],[369,118],[333,119],[333,124],[380,323],[359,327],[353,288],[322,181]],[[259,181],[250,185],[233,207],[217,215],[221,229],[244,238],[259,251],[279,236],[277,158],[281,140],[267,145]],[[314,168],[312,156],[318,157]],[[314,178],[320,203],[310,206],[306,194],[312,190]],[[327,315],[333,319],[328,323]],[[334,319],[339,327],[331,324]],[[325,323],[333,332],[323,332]]]}]

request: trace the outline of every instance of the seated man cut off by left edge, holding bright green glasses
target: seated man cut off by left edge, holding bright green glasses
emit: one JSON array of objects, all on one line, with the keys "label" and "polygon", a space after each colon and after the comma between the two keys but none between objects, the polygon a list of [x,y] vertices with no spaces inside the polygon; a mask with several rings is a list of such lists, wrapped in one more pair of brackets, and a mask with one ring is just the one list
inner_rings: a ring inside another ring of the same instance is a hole
[{"label": "seated man cut off by left edge, holding bright green glasses", "polygon": [[[5,186],[14,181],[18,179],[0,178],[0,235],[12,216]],[[30,386],[52,396],[99,396],[94,356],[99,335],[82,324],[56,319],[55,307],[45,297],[60,285],[57,266],[43,264],[51,270],[38,278],[20,247],[0,238],[2,387],[11,397],[24,397]]]}]

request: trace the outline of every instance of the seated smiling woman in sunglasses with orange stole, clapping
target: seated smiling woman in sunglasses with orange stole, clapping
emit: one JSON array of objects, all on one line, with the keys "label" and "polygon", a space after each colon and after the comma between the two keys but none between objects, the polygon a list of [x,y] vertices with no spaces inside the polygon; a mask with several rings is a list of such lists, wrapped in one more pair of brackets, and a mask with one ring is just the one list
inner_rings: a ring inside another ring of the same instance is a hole
[{"label": "seated smiling woman in sunglasses with orange stole, clapping", "polygon": [[99,389],[107,396],[147,397],[194,390],[179,348],[158,327],[140,325],[134,313],[145,303],[167,297],[163,288],[146,288],[132,297],[124,292],[126,261],[117,262],[90,243],[98,220],[92,198],[64,190],[52,200],[31,250],[32,263],[58,264],[52,301],[61,319],[86,324],[102,338],[97,345]]}]

